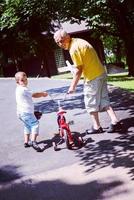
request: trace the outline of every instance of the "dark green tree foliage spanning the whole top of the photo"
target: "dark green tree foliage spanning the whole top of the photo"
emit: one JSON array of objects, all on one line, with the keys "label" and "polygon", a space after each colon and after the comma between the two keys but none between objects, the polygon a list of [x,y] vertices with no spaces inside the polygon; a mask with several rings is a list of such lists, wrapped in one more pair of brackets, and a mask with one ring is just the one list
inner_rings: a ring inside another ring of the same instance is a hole
[{"label": "dark green tree foliage spanning the whole top of the photo", "polygon": [[[86,20],[87,26],[94,30],[93,36],[101,37],[104,45],[117,55],[116,59],[126,55],[130,74],[134,74],[132,0],[1,0],[0,51],[16,58],[39,55],[45,40],[59,27],[59,21],[70,20],[71,23]],[[42,32],[46,33],[44,37]]]}]

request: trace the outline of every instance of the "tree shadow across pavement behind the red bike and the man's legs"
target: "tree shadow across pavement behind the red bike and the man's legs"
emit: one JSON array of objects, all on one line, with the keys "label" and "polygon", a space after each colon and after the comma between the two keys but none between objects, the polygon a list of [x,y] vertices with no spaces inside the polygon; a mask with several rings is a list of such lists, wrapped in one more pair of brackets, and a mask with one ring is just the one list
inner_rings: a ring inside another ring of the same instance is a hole
[{"label": "tree shadow across pavement behind the red bike and the man's legs", "polygon": [[[41,101],[39,103],[35,103],[36,110],[40,110],[43,113],[51,113],[57,111],[58,100],[62,100],[65,93],[67,92],[68,87],[60,87],[55,89],[48,90],[49,94],[54,95],[54,100],[46,100]],[[85,109],[84,105],[84,96],[83,96],[83,85],[79,85],[77,87],[76,94],[77,96],[67,95],[67,98],[64,102],[62,102],[64,109],[72,110],[72,109]],[[122,90],[120,88],[114,88],[110,86],[109,96],[111,105],[115,111],[126,111],[130,113],[130,115],[134,115],[134,93],[127,92],[126,90]]]}]

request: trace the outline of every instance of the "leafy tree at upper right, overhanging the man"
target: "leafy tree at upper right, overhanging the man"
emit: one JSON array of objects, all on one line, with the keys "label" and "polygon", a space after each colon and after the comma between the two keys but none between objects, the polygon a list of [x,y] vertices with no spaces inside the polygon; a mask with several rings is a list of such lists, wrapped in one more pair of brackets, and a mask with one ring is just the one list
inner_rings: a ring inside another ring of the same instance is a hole
[{"label": "leafy tree at upper right, overhanging the man", "polygon": [[99,36],[114,36],[123,41],[129,75],[134,76],[134,1],[133,0],[64,0],[60,20],[80,22]]}]

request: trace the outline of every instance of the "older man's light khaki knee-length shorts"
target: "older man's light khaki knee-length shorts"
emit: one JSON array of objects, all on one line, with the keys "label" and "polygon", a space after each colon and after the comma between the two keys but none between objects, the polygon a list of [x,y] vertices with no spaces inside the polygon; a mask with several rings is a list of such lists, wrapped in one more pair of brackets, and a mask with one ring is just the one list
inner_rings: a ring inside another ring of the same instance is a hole
[{"label": "older man's light khaki knee-length shorts", "polygon": [[110,105],[106,74],[84,84],[84,102],[88,113],[105,110]]}]

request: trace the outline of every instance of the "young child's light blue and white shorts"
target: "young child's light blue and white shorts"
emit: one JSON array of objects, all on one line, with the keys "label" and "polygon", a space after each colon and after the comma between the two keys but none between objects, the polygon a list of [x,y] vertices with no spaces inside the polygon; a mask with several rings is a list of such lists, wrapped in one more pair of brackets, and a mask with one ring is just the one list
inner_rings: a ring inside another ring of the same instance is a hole
[{"label": "young child's light blue and white shorts", "polygon": [[39,134],[39,121],[32,113],[18,114],[19,119],[24,124],[24,134]]}]

